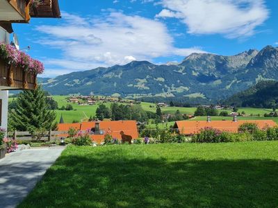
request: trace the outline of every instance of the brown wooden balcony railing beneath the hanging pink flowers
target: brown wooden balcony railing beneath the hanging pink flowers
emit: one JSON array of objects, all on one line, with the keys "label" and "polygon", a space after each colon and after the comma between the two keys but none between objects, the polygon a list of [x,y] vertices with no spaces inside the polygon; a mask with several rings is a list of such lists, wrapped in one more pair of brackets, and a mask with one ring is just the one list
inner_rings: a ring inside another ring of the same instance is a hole
[{"label": "brown wooden balcony railing beneath the hanging pink flowers", "polygon": [[36,74],[0,60],[0,89],[35,89],[37,86]]}]

